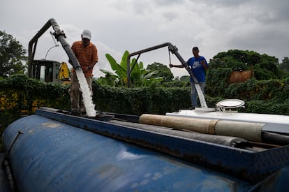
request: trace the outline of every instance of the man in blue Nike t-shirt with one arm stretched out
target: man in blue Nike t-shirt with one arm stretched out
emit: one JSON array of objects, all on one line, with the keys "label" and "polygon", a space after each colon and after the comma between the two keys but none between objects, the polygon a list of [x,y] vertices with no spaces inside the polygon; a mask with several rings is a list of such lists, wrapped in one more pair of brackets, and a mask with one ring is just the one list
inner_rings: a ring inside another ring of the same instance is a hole
[{"label": "man in blue Nike t-shirt with one arm stretched out", "polygon": [[[195,89],[195,83],[200,84],[200,88],[202,89],[202,93],[204,94],[205,91],[205,80],[206,80],[206,73],[205,71],[207,68],[209,68],[209,65],[207,64],[207,61],[205,57],[202,57],[199,55],[199,48],[193,47],[192,49],[193,56],[186,63],[188,66],[191,66],[191,70],[193,72],[193,75],[198,80],[198,82],[194,82],[191,78],[191,102],[193,105],[193,109],[198,107],[197,102],[197,90]],[[184,68],[183,65],[173,65],[170,64],[170,67],[177,67],[177,68]]]}]

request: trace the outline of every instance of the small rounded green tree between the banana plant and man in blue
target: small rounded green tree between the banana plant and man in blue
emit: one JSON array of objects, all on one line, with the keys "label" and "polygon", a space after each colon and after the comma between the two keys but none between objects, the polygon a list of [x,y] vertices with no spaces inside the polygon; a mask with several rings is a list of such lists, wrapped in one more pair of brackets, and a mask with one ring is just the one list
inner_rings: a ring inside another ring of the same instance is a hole
[{"label": "small rounded green tree between the banana plant and man in blue", "polygon": [[154,62],[154,64],[148,65],[147,70],[158,71],[158,73],[151,75],[151,77],[163,77],[163,80],[165,82],[172,81],[172,79],[174,78],[174,75],[172,74],[172,71],[170,71],[170,68],[160,63]]}]

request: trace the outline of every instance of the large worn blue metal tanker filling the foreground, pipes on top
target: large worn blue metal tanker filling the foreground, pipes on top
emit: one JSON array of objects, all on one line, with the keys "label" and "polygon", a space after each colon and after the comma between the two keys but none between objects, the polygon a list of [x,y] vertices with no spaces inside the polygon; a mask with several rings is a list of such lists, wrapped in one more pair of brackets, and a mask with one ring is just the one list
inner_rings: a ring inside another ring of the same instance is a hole
[{"label": "large worn blue metal tanker filling the foreground, pipes on top", "polygon": [[[210,132],[239,126],[252,128],[254,134],[260,126],[256,138],[262,142],[198,133],[183,124]],[[8,175],[2,189],[288,191],[288,135],[264,131],[265,125],[105,112],[79,117],[40,108],[3,133],[2,168]]]}]

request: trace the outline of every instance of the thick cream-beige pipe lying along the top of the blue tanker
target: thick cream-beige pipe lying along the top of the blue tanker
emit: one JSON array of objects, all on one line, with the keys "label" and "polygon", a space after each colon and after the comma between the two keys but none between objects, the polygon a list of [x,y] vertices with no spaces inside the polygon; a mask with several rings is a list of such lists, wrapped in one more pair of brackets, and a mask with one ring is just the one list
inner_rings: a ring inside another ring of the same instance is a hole
[{"label": "thick cream-beige pipe lying along the top of the blue tanker", "polygon": [[265,124],[243,121],[197,119],[148,114],[140,116],[140,123],[168,126],[178,130],[185,129],[198,133],[239,137],[255,142],[262,142],[262,127],[265,126]]}]

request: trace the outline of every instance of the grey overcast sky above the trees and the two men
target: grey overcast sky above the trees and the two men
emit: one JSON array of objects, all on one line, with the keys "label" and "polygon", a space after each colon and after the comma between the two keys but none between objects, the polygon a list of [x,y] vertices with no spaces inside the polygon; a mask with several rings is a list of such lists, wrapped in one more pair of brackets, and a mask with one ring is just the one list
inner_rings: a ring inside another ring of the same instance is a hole
[{"label": "grey overcast sky above the trees and the two men", "polygon": [[[170,42],[184,60],[198,46],[207,61],[218,52],[253,50],[279,59],[289,57],[288,0],[1,0],[0,30],[13,35],[28,50],[31,38],[54,18],[70,45],[80,40],[83,29],[92,33],[98,47],[99,68],[110,70],[105,54],[118,62],[125,50],[135,52]],[[54,41],[52,28],[38,40],[35,59],[44,59]],[[66,61],[61,47],[54,47],[46,59]],[[172,63],[179,64],[174,55]],[[139,61],[168,65],[168,48],[144,53]],[[184,68],[172,68],[176,76],[188,75]]]}]

